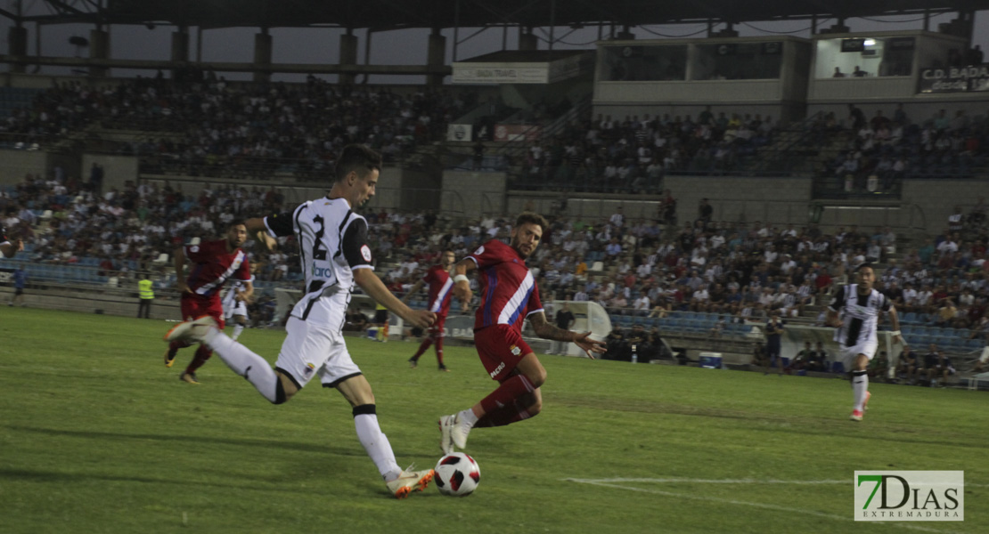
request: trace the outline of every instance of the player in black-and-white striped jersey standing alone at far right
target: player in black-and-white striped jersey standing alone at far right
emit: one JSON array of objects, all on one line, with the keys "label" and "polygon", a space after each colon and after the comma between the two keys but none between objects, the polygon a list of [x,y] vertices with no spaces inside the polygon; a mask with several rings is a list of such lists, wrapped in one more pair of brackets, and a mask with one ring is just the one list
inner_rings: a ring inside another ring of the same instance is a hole
[{"label": "player in black-and-white striped jersey standing alone at far right", "polygon": [[893,327],[893,343],[900,339],[900,319],[896,308],[885,295],[872,288],[875,272],[870,264],[855,268],[857,283],[845,285],[835,292],[835,298],[828,307],[827,324],[835,327],[835,341],[841,346],[843,363],[849,369],[854,395],[852,420],[862,420],[865,407],[872,394],[868,391],[866,368],[879,346],[877,330],[879,316],[889,315]]}]

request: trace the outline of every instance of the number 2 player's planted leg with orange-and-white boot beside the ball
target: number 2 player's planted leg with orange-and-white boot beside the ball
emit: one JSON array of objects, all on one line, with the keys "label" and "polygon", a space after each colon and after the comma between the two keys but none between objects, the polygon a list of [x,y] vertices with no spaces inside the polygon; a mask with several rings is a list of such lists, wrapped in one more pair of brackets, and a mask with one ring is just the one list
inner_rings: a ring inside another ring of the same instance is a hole
[{"label": "number 2 player's planted leg with orange-and-white boot beside the ball", "polygon": [[389,491],[398,498],[404,498],[411,492],[425,489],[433,478],[432,470],[412,471],[411,468],[403,470],[399,467],[392,444],[378,423],[371,384],[350,358],[342,338],[334,343],[332,355],[319,369],[319,375],[323,387],[336,388],[350,403],[357,439],[378,468]]}]

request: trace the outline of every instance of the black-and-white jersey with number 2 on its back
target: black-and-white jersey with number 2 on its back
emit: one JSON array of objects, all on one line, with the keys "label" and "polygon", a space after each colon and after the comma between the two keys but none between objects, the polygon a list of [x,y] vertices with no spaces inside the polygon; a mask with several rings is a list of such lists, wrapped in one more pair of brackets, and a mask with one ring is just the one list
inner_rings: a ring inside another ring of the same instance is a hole
[{"label": "black-and-white jersey with number 2 on its back", "polygon": [[354,269],[374,268],[367,220],[345,199],[322,197],[303,202],[292,213],[265,217],[264,224],[273,236],[294,234],[299,241],[306,287],[292,315],[337,326],[350,301]]}]

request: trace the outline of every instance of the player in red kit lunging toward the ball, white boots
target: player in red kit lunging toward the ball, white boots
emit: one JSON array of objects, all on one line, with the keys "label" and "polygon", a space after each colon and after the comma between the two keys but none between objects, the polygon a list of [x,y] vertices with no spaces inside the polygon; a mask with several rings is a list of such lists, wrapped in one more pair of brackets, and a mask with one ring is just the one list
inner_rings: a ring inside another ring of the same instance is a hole
[{"label": "player in red kit lunging toward the ball, white boots", "polygon": [[594,352],[606,350],[605,343],[588,338],[589,332],[566,331],[546,321],[539,288],[525,259],[536,251],[547,226],[542,215],[522,213],[509,245],[489,241],[454,267],[454,295],[461,302],[471,301],[467,273],[479,270],[481,306],[474,322],[474,344],[489,376],[500,385],[474,407],[440,418],[444,454],[453,452],[454,445],[463,449],[475,426],[501,426],[539,414],[539,388],[546,381],[546,369],[522,340],[526,319],[544,340],[577,343],[591,358]]}]

